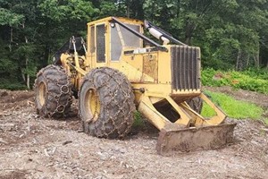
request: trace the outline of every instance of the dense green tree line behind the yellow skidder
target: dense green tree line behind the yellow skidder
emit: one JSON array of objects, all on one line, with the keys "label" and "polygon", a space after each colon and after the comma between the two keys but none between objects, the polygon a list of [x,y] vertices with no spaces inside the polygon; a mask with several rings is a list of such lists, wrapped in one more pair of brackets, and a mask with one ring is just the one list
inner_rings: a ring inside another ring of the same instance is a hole
[{"label": "dense green tree line behind the yellow skidder", "polygon": [[268,67],[268,0],[0,0],[0,84],[30,87],[66,40],[106,16],[154,22],[201,47],[205,67]]}]

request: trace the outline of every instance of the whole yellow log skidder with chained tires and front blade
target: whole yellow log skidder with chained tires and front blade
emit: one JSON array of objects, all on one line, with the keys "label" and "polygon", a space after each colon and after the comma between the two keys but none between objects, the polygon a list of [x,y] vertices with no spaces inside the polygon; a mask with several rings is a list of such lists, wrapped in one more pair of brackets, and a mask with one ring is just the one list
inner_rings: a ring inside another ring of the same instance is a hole
[{"label": "whole yellow log skidder with chained tires and front blade", "polygon": [[[160,154],[221,148],[232,140],[235,124],[225,124],[226,115],[201,92],[200,54],[199,47],[181,43],[149,21],[107,17],[89,22],[87,44],[71,38],[54,55],[54,65],[38,73],[38,113],[65,115],[73,94],[90,135],[124,137],[136,107],[160,130]],[[60,79],[54,75],[62,76],[62,86],[55,85]],[[201,116],[202,102],[216,115]]]}]

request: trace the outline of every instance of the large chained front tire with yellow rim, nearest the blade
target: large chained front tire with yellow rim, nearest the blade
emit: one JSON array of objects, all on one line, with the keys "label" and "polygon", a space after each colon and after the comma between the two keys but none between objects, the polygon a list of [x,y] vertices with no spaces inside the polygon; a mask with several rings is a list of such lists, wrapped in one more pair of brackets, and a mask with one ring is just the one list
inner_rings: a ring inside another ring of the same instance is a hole
[{"label": "large chained front tire with yellow rim, nearest the blade", "polygon": [[119,71],[102,67],[84,76],[79,93],[84,131],[101,138],[124,137],[134,121],[134,94]]}]

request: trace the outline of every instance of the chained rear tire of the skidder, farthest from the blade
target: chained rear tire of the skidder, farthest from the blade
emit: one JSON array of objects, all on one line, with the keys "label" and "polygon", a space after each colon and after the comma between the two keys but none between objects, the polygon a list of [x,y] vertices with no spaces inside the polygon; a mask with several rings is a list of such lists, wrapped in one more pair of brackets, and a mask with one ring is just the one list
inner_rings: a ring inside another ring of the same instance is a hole
[{"label": "chained rear tire of the skidder, farthest from the blade", "polygon": [[35,105],[38,115],[59,118],[71,108],[71,81],[62,66],[50,64],[38,72]]}]

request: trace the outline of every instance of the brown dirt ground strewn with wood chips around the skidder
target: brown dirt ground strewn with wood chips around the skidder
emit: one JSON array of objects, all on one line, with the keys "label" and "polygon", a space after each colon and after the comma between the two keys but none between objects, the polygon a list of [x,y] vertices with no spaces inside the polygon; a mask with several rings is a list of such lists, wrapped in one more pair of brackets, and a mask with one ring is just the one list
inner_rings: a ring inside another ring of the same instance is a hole
[{"label": "brown dirt ground strewn with wood chips around the skidder", "polygon": [[[210,89],[211,90],[211,89]],[[213,89],[212,89],[213,90]],[[268,106],[268,96],[214,89]],[[65,120],[40,118],[32,91],[0,90],[0,178],[268,178],[268,128],[239,120],[224,149],[163,157],[150,126],[127,139],[105,140],[81,131],[77,108]]]}]

